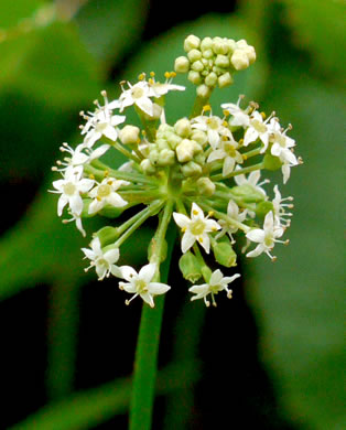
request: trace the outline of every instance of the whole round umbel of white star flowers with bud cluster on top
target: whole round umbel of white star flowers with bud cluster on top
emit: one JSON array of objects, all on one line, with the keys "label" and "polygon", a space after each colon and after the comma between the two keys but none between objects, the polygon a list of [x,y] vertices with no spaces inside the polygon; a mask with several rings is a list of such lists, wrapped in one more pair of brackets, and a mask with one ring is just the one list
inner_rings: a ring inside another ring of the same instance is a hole
[{"label": "whole round umbel of white star flowers with bud cluster on top", "polygon": [[[82,112],[82,143],[75,149],[63,143],[65,158],[53,168],[61,175],[53,182],[58,216],[67,212],[64,222],[75,222],[84,236],[83,218],[105,216],[109,224],[82,250],[89,260],[86,270],[94,267],[99,280],[121,280],[120,289],[132,294],[127,303],[140,295],[154,307],[153,298],[171,288],[160,282],[160,265],[172,218],[181,236],[179,266],[193,283],[191,300],[204,299],[206,305],[209,297],[216,305],[220,291],[231,297],[229,283],[240,275],[224,277],[217,267],[237,265],[236,239],[247,257],[267,254],[271,260],[274,245],[288,244],[282,236],[293,198],[282,198],[277,184],[270,197],[263,187],[270,181],[261,179],[261,172],[281,169],[285,183],[291,168],[301,162],[286,135],[291,126],[282,128],[274,112],[266,116],[242,96],[236,103],[226,100],[221,116],[209,105],[215,87],[229,86],[236,72],[255,62],[255,49],[244,40],[194,35],[186,37],[184,49],[186,56],[175,60],[175,72],[166,73],[164,82],[142,73],[136,84],[120,84],[116,100],[102,92],[104,104],[95,101],[93,112]],[[181,118],[167,123],[165,96],[185,90],[172,83],[176,73],[186,73],[196,85],[196,100],[190,117],[183,106]],[[141,127],[127,122],[127,110],[133,108]],[[128,162],[118,169],[107,165],[101,161],[107,151],[121,152]],[[131,215],[119,223],[129,208]],[[117,266],[121,245],[153,216],[158,228],[148,244],[148,264],[139,272]],[[206,254],[214,255],[213,268]]]}]

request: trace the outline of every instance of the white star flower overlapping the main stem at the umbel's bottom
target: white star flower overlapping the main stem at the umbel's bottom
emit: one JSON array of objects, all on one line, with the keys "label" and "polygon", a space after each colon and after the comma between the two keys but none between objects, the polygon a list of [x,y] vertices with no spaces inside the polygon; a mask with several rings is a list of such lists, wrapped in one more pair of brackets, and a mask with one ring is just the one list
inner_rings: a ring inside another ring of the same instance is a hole
[{"label": "white star flower overlapping the main stem at the umbel's bottom", "polygon": [[126,304],[129,304],[136,297],[140,295],[145,303],[153,308],[153,297],[164,294],[171,289],[166,283],[152,282],[155,271],[156,265],[154,264],[143,266],[139,273],[130,266],[120,267],[120,278],[123,278],[128,282],[119,282],[119,288],[133,294],[130,300],[126,301]]}]

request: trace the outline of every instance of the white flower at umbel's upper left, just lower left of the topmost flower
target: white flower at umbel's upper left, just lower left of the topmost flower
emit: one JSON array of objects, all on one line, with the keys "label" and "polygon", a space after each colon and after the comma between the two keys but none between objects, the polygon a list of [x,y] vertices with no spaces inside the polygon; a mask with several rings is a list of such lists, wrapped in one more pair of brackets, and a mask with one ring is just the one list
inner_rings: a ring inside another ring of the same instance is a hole
[{"label": "white flower at umbel's upper left, just lower left of the topmost flower", "polygon": [[97,109],[95,112],[84,115],[87,123],[82,128],[82,135],[86,135],[84,142],[90,148],[102,136],[116,141],[118,138],[117,126],[126,120],[123,115],[112,115],[111,104],[108,103],[106,92],[101,93],[105,98],[105,106],[100,106],[96,100]]}]

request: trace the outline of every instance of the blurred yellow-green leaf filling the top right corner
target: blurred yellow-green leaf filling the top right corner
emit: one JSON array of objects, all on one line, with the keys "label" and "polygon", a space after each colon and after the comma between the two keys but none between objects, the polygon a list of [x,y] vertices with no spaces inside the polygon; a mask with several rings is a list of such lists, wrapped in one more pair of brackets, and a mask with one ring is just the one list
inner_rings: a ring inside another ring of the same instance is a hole
[{"label": "blurred yellow-green leaf filling the top right corner", "polygon": [[288,7],[288,23],[294,29],[293,42],[312,53],[320,75],[328,72],[333,80],[344,82],[346,52],[343,0],[281,0]]}]

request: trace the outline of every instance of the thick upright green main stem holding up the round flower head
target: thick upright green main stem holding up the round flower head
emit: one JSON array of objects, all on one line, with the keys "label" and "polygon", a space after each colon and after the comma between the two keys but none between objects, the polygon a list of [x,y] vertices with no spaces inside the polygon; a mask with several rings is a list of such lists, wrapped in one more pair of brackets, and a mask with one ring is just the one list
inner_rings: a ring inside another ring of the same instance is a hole
[{"label": "thick upright green main stem holding up the round flower head", "polygon": [[[155,256],[159,256],[159,258],[162,254],[164,236],[172,214],[172,202],[167,202],[155,235],[158,239],[158,248],[154,254]],[[172,228],[169,229],[170,237],[167,240],[167,257],[162,265],[161,281],[164,283],[167,282],[169,267],[175,236],[175,228],[173,225]],[[152,260],[155,260],[155,258],[152,258]],[[155,298],[154,309],[151,309],[145,304],[143,304],[142,308],[130,404],[130,430],[151,429],[163,308],[164,295]]]}]

